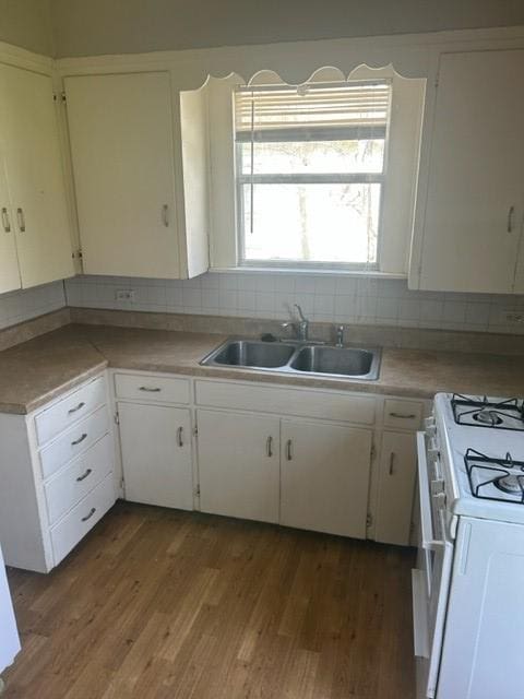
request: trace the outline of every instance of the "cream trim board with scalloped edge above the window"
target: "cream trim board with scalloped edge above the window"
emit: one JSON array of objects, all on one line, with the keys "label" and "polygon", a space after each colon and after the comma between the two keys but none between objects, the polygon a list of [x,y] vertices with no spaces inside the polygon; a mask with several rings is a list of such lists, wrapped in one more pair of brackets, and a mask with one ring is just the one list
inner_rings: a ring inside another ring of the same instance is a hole
[{"label": "cream trim board with scalloped edge above the window", "polygon": [[240,73],[246,82],[261,70],[275,70],[291,84],[305,82],[319,66],[337,67],[348,75],[365,63],[393,66],[407,78],[426,78],[432,56],[444,50],[510,48],[524,43],[524,26],[460,29],[426,34],[322,39],[226,46],[209,49],[151,51],[61,58],[55,61],[63,75],[91,72],[171,70],[180,90],[203,85],[210,74],[225,78]]}]

